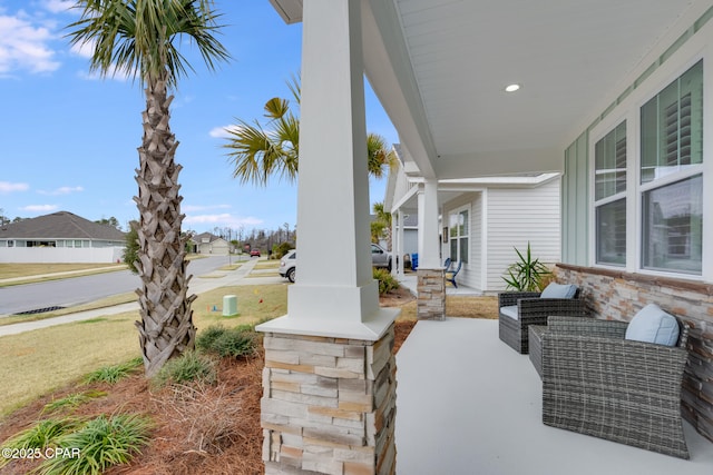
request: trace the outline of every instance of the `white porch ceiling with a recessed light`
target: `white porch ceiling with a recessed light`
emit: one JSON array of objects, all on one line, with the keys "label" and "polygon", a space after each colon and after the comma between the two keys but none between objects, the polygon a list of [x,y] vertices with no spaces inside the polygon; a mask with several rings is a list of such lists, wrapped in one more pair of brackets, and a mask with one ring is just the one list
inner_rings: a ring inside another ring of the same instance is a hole
[{"label": "white porch ceiling with a recessed light", "polygon": [[[301,0],[271,0],[299,21]],[[420,175],[557,171],[710,0],[364,0],[372,88]],[[506,93],[505,87],[520,90]]]}]

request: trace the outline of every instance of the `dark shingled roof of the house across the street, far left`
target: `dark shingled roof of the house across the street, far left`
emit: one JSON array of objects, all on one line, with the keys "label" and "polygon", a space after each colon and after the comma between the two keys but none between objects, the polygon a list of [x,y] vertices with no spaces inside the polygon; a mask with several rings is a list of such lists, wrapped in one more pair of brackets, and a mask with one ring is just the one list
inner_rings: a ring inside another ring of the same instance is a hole
[{"label": "dark shingled roof of the house across the street, far left", "polygon": [[99,239],[124,241],[125,232],[68,211],[10,222],[0,228],[0,239]]}]

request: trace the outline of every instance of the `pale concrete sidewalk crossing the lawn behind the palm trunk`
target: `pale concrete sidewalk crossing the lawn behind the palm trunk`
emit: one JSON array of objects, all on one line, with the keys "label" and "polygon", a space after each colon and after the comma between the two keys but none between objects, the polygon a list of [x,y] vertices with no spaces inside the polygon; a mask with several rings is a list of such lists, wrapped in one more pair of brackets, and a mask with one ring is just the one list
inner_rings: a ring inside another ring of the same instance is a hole
[{"label": "pale concrete sidewalk crossing the lawn behind the palm trunk", "polygon": [[[287,280],[282,277],[247,277],[255,268],[258,259],[245,261],[235,270],[215,270],[204,276],[194,276],[188,283],[189,294],[201,295],[219,287],[240,285],[270,285],[284,284]],[[61,317],[46,318],[43,320],[25,321],[13,325],[0,326],[0,336],[17,335],[39,328],[47,328],[55,325],[69,324],[72,321],[88,320],[91,318],[105,317],[108,315],[123,314],[125,311],[138,310],[138,303],[115,305],[113,307],[97,308],[94,310],[78,311],[76,314],[62,315]]]}]

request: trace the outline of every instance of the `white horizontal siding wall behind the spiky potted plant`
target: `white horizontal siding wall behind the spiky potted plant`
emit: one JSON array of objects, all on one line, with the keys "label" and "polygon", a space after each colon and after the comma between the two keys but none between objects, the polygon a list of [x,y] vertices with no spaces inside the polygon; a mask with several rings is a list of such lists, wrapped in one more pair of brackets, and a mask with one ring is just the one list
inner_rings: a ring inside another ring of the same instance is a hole
[{"label": "white horizontal siding wall behind the spiky potted plant", "polygon": [[543,263],[560,260],[559,180],[537,188],[488,190],[487,291],[505,289],[508,266],[530,243],[533,256]]}]

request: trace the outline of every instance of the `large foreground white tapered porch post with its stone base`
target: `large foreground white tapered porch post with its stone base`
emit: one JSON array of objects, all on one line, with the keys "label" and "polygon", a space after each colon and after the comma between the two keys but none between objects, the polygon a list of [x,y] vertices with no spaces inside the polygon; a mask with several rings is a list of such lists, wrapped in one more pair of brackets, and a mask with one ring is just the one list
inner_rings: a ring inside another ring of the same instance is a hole
[{"label": "large foreground white tapered porch post with its stone base", "polygon": [[304,0],[297,225],[287,315],[265,333],[265,473],[395,471],[395,309],[372,277],[362,0]]}]

